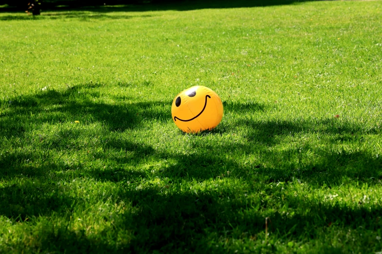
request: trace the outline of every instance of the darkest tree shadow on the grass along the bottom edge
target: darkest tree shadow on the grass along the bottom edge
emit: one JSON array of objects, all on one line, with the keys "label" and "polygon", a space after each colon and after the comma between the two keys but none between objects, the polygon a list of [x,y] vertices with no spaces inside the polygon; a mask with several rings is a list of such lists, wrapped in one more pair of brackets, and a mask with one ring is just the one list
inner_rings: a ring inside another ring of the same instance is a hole
[{"label": "darkest tree shadow on the grass along the bottom edge", "polygon": [[[133,207],[138,208],[138,212],[120,214],[120,218],[113,222],[113,230],[105,229],[97,235],[86,235],[83,231],[69,230],[65,223],[54,227],[47,223],[44,230],[39,232],[39,237],[36,237],[36,243],[32,240],[28,246],[37,244],[40,251],[46,252],[223,253],[227,251],[229,241],[238,240],[246,241],[252,247],[260,246],[263,251],[271,253],[276,250],[272,240],[274,237],[281,241],[297,242],[306,235],[310,239],[322,239],[330,226],[334,227],[331,232],[336,232],[337,228],[339,233],[377,231],[381,227],[380,205],[349,207],[339,203],[311,202],[293,194],[285,194],[283,209],[295,211],[294,215],[288,216],[285,211],[277,209],[266,214],[271,221],[268,244],[264,243],[265,214],[262,210],[271,204],[268,200],[262,200],[261,195],[247,197],[233,187],[226,188],[224,192],[206,190],[198,193],[191,190],[163,193],[155,187],[126,189],[120,188],[114,195],[121,201],[131,202]],[[15,190],[6,191],[20,193]],[[42,202],[42,207],[44,205]],[[68,207],[67,203],[61,203],[63,207]],[[360,226],[362,229],[359,229]],[[118,245],[102,239],[106,236],[117,239],[118,233],[126,229],[128,233],[124,233],[123,238],[128,240]],[[367,238],[358,240],[361,241],[360,246],[371,247],[363,242]]]}]

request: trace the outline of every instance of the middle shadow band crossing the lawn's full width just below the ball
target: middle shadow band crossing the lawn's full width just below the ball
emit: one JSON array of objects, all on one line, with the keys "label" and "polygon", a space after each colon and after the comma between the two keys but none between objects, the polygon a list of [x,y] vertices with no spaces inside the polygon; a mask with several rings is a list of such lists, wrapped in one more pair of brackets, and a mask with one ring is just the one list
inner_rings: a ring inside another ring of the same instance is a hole
[{"label": "middle shadow band crossing the lawn's full width just below the ball", "polygon": [[[104,145],[105,151],[91,151],[87,158],[83,158],[93,162],[92,167],[84,167],[80,162],[68,164],[57,160],[54,154],[61,148],[52,149],[50,153],[36,151],[1,155],[0,175],[4,179],[11,179],[17,176],[45,178],[50,174],[55,178],[90,178],[112,182],[139,182],[154,177],[172,181],[241,179],[268,183],[300,179],[315,186],[338,186],[343,181],[367,182],[373,185],[379,184],[378,181],[382,179],[381,158],[362,150],[338,151],[305,146],[272,152],[261,146],[255,148],[259,149],[259,154],[255,155],[253,162],[240,162],[227,158],[226,155],[233,151],[253,156],[249,147],[229,145],[214,154],[208,153],[208,147],[204,147],[201,153],[184,155],[161,153],[138,143],[127,142],[119,146],[110,142]],[[124,155],[113,155],[109,149],[123,149]],[[306,156],[307,150],[314,154],[314,158]],[[262,159],[258,162],[260,155]],[[137,165],[148,159],[161,163],[158,166],[136,169]]]}]

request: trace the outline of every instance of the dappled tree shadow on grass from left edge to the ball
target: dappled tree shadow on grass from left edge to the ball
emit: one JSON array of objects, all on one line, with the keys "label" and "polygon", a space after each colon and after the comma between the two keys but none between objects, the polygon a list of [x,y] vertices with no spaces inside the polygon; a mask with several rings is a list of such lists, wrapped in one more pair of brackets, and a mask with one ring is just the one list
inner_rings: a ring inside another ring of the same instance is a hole
[{"label": "dappled tree shadow on grass from left edge to the ball", "polygon": [[[31,122],[60,124],[64,122],[100,122],[110,131],[140,128],[143,120],[171,119],[163,102],[114,103],[100,102],[98,91],[87,86],[65,91],[47,90],[33,95],[20,95],[12,101],[1,100],[8,112],[0,116],[0,134],[5,137],[22,136]],[[35,126],[33,127],[36,128]]]}]

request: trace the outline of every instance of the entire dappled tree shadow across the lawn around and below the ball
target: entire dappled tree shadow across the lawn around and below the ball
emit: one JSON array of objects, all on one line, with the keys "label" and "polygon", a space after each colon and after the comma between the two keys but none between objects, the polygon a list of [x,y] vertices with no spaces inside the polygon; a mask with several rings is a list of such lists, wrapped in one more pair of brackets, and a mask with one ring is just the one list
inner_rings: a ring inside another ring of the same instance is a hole
[{"label": "entire dappled tree shadow across the lawn around and below the ball", "polygon": [[[380,228],[376,222],[382,213],[380,205],[366,207],[362,200],[354,200],[358,204],[354,207],[341,206],[340,203],[325,204],[320,200],[312,202],[304,197],[295,197],[293,193],[285,193],[281,188],[267,187],[275,182],[293,184],[295,179],[314,187],[338,186],[344,183],[344,179],[369,186],[377,184],[382,178],[382,160],[368,151],[311,147],[309,144],[291,145],[284,150],[270,148],[293,135],[325,133],[337,137],[330,141],[335,143],[342,141],[341,137],[346,140],[363,134],[379,134],[378,129],[365,129],[358,123],[340,119],[268,122],[243,119],[240,113],[266,111],[267,106],[225,102],[224,110],[233,118],[231,127],[190,135],[188,145],[191,149],[188,153],[171,153],[116,135],[119,131],[144,127],[143,119],[149,122],[170,121],[170,101],[107,104],[100,100],[101,92],[93,89],[99,86],[87,84],[65,91],[41,91],[34,95],[21,95],[12,99],[11,104],[0,102],[2,106],[9,107],[7,114],[0,116],[2,138],[15,138],[27,143],[23,140],[25,132],[29,135],[30,131],[45,123],[58,124],[75,119],[100,123],[108,134],[101,141],[99,138],[94,141],[98,143],[90,145],[90,148],[86,147],[90,151],[71,164],[57,158],[57,153],[83,149],[80,143],[72,141],[93,137],[96,132],[86,127],[60,128],[51,136],[36,137],[40,139],[40,146],[35,145],[35,149],[26,147],[15,149],[13,153],[1,153],[0,179],[13,179],[17,183],[0,187],[0,215],[24,221],[26,218],[50,216],[53,212],[67,216],[74,209],[81,210],[85,205],[83,198],[68,189],[72,187],[70,184],[59,184],[60,179],[70,182],[76,178],[117,183],[106,196],[131,204],[137,210],[134,214],[122,213],[118,221],[113,220],[113,230],[105,229],[97,236],[72,231],[65,223],[53,225],[47,222],[35,238],[36,243],[30,243],[39,250],[117,253],[123,248],[123,251],[132,253],[156,250],[171,253],[187,249],[189,252],[221,253],[226,250],[226,239],[252,239],[248,241],[272,252],[275,251],[272,249],[274,246],[263,244],[265,217],[269,217],[273,225],[268,229],[269,237],[288,241],[300,241],[306,234],[309,238],[322,239],[321,231],[316,229],[324,231],[332,222],[333,226],[337,225],[339,230],[346,232],[361,225],[365,230]],[[163,104],[168,107],[163,107]],[[235,112],[239,114],[235,116]],[[229,138],[221,145],[199,142],[209,135],[233,136],[237,126],[247,129],[243,137],[245,142],[230,141]],[[91,149],[92,146],[102,149]],[[113,153],[121,150],[123,153]],[[314,156],[310,157],[312,154]],[[91,161],[94,166],[84,166],[81,159]],[[150,159],[161,163],[152,168],[136,168]],[[165,179],[168,188],[155,184],[140,187],[142,180],[155,178]],[[239,185],[182,191],[179,186],[172,188],[182,181],[204,180],[232,180],[247,184],[248,188],[245,191]],[[135,185],[131,187],[128,184]],[[252,196],[246,196],[246,191]],[[273,199],[282,198],[286,208],[267,210],[274,207],[274,203],[263,199],[261,192]],[[292,209],[295,214],[288,216],[287,209]],[[266,215],[265,210],[268,211]],[[117,239],[123,230],[131,233],[128,236],[131,239],[120,245],[105,240]],[[368,246],[367,243],[362,244]]]}]

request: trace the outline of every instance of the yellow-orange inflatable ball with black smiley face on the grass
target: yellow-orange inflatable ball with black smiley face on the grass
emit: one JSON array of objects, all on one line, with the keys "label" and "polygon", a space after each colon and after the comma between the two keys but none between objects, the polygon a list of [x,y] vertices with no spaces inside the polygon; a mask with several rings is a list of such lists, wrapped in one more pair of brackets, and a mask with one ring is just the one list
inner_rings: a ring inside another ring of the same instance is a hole
[{"label": "yellow-orange inflatable ball with black smiley face on the grass", "polygon": [[184,132],[199,132],[218,126],[223,104],[216,92],[195,86],[179,93],[171,106],[174,123]]}]

